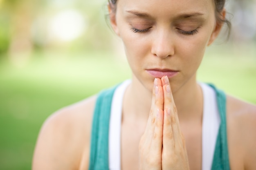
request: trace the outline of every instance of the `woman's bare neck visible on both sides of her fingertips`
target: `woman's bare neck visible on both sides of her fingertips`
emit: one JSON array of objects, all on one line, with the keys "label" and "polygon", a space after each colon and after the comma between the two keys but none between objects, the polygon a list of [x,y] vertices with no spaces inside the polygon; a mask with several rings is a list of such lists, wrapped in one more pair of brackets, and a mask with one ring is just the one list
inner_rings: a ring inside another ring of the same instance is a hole
[{"label": "woman's bare neck visible on both sides of her fingertips", "polygon": [[[200,85],[195,77],[180,86],[173,92],[175,106],[178,110],[179,119],[186,120],[201,118],[203,110],[203,97]],[[124,113],[136,119],[148,119],[152,101],[152,91],[144,87],[136,77],[128,86],[124,96]]]}]

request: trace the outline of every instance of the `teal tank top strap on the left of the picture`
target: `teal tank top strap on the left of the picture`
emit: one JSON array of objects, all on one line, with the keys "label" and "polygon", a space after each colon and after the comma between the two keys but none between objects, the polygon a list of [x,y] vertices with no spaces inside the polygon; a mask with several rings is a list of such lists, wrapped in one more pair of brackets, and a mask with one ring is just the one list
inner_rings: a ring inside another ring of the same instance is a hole
[{"label": "teal tank top strap on the left of the picture", "polygon": [[89,170],[108,170],[108,133],[112,97],[117,86],[99,93],[92,120]]}]

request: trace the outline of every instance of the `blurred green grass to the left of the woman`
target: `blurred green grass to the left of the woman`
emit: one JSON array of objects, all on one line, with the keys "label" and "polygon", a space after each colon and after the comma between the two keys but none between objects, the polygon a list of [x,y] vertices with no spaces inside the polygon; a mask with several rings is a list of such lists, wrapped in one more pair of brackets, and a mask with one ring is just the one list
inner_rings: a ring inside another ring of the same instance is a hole
[{"label": "blurred green grass to the left of the woman", "polygon": [[72,58],[50,54],[19,67],[2,60],[0,170],[31,169],[43,121],[59,108],[127,79],[127,70],[126,63],[113,62],[109,55],[99,54]]}]

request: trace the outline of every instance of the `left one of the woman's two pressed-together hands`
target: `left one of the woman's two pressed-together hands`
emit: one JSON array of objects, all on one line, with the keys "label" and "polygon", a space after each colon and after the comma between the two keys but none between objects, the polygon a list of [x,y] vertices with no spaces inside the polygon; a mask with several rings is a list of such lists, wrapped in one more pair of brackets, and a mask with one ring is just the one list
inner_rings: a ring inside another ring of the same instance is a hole
[{"label": "left one of the woman's two pressed-together hands", "polygon": [[154,165],[157,162],[158,164],[155,165],[158,166],[157,169],[161,166],[162,158],[163,102],[162,82],[160,79],[155,79],[150,114],[139,150],[141,160],[144,160],[147,165]]}]

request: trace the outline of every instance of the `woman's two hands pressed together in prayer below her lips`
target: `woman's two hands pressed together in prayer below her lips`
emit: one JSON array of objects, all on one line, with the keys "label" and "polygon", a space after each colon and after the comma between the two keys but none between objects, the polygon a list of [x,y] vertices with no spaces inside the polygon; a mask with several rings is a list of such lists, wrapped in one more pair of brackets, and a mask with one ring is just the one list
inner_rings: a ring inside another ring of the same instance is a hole
[{"label": "woman's two hands pressed together in prayer below her lips", "polygon": [[155,79],[153,96],[146,130],[139,144],[139,169],[189,169],[185,141],[167,76]]}]

